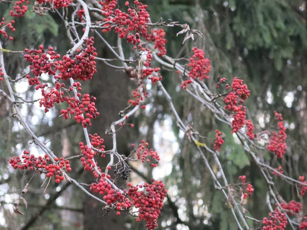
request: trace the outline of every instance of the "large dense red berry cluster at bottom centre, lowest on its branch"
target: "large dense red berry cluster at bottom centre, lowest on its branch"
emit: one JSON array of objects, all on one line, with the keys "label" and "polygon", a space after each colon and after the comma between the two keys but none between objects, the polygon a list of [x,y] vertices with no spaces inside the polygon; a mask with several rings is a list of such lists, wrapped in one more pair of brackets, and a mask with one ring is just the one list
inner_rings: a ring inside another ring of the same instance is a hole
[{"label": "large dense red berry cluster at bottom centre, lowest on its branch", "polygon": [[[139,209],[140,222],[142,219],[147,222],[148,229],[155,229],[158,227],[157,219],[163,207],[163,200],[166,197],[165,185],[162,181],[151,179],[151,185],[144,183],[143,185],[132,186],[128,190],[129,197],[133,200],[133,204]],[[145,191],[139,191],[144,188]]]}]

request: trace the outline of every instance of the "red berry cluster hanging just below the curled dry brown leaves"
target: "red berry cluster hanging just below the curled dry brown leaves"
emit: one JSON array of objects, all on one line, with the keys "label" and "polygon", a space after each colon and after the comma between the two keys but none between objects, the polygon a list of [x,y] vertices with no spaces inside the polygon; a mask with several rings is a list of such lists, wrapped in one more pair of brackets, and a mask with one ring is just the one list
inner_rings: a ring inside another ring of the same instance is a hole
[{"label": "red berry cluster hanging just below the curled dry brown leaves", "polygon": [[[205,53],[203,50],[194,47],[192,49],[194,55],[190,58],[190,62],[188,66],[190,67],[189,77],[193,79],[199,79],[202,81],[203,79],[209,79],[209,72],[211,70],[210,60],[205,58]],[[187,85],[192,81],[188,79],[181,84],[181,87],[186,89]]]}]

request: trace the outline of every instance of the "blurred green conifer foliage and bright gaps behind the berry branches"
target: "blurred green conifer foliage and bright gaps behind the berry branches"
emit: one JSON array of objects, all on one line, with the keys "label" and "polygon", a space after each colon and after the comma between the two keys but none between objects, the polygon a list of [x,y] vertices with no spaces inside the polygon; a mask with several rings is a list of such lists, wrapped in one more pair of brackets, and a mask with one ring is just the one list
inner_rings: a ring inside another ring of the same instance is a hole
[{"label": "blurred green conifer foliage and bright gaps behind the berry branches", "polygon": [[[119,1],[124,2],[124,1]],[[306,1],[303,0],[155,0],[143,1],[148,4],[151,20],[172,19],[187,23],[191,28],[200,30],[204,37],[195,36],[195,41],[182,45],[183,36],[176,36],[180,28],[163,28],[167,32],[167,55],[183,57],[191,54],[191,48],[197,46],[205,51],[211,60],[212,71],[206,82],[211,91],[216,93],[217,76],[232,80],[235,76],[244,79],[251,90],[247,100],[248,118],[253,120],[256,132],[270,127],[273,111],[281,112],[288,128],[288,150],[283,160],[277,160],[268,152],[264,158],[273,167],[282,166],[284,173],[294,178],[306,174],[306,61],[307,61],[307,12]],[[12,4],[12,3],[11,3]],[[0,3],[0,15],[8,16],[10,3]],[[60,10],[61,12],[61,10]],[[71,44],[67,38],[62,19],[56,12],[38,16],[28,12],[25,17],[16,19],[16,32],[13,43],[4,44],[5,49],[23,50],[44,44],[52,45],[61,54],[67,51]],[[107,40],[116,46],[114,34],[107,34]],[[114,43],[112,43],[114,41]],[[100,57],[112,58],[99,38],[95,38],[96,48]],[[126,56],[133,56],[131,47],[126,46]],[[18,77],[27,71],[26,63],[19,54],[6,54],[6,66],[9,74]],[[118,120],[118,112],[127,106],[127,100],[132,97],[135,85],[125,77],[125,74],[97,62],[98,73],[91,83],[83,84],[83,89],[100,98],[98,109],[101,114],[93,122],[91,133],[98,132],[106,140],[105,129],[112,121]],[[118,63],[120,64],[120,63]],[[199,102],[193,100],[180,88],[180,79],[174,72],[162,69],[163,84],[169,91],[180,116],[185,124],[193,122],[194,129],[207,136],[207,145],[213,145],[214,130],[219,129],[226,134],[225,144],[220,153],[220,159],[230,183],[238,182],[239,175],[246,175],[247,181],[253,184],[255,192],[248,199],[247,210],[256,219],[268,215],[265,196],[267,186],[257,170],[252,159],[242,146],[232,136],[228,126],[216,121],[212,113]],[[48,80],[46,80],[48,81]],[[3,83],[0,83],[3,87]],[[26,98],[33,97],[34,88],[30,87]],[[159,125],[165,129],[165,121],[171,121],[170,110],[164,96],[157,87],[149,90],[149,111],[142,111],[131,118],[135,124],[133,130],[125,128],[118,136],[119,151],[128,154],[131,143],[146,139],[153,146],[155,133]],[[18,93],[18,92],[16,92]],[[98,100],[97,100],[98,101]],[[15,216],[4,205],[7,196],[14,197],[20,192],[32,176],[29,172],[13,172],[7,165],[13,154],[20,154],[20,149],[29,148],[29,137],[23,130],[14,129],[14,124],[8,118],[5,101],[0,102],[0,189],[1,212],[6,220],[6,229],[18,229],[20,224],[27,223],[22,229],[145,229],[144,222],[136,223],[134,219],[124,215],[103,217],[101,205],[80,194],[78,190],[68,187],[61,188],[51,182],[45,195],[40,185],[43,178],[36,177],[31,182],[28,196],[27,216]],[[35,114],[35,106],[23,108],[31,123],[35,117],[33,129],[42,140],[48,141],[54,152],[73,155],[78,154],[78,143],[83,141],[82,129],[74,122],[58,118],[60,107],[53,110],[53,116],[46,118],[43,114]],[[183,133],[172,124],[173,134],[179,148],[171,153],[170,172],[163,180],[168,188],[169,199],[166,201],[159,218],[158,229],[237,229],[231,216],[227,201],[220,191],[216,191],[207,169],[200,156]],[[162,147],[161,147],[162,146]],[[159,153],[161,158],[164,152]],[[213,159],[207,155],[209,162],[218,175]],[[72,163],[74,168],[80,167],[79,162]],[[101,162],[104,164],[104,162]],[[144,181],[152,177],[152,170],[147,166],[134,165],[139,174],[133,173],[135,181]],[[159,166],[158,170],[163,168]],[[77,174],[77,170],[76,170]],[[140,176],[140,174],[142,174]],[[85,176],[84,176],[85,175]],[[82,173],[80,178],[91,182],[89,174]],[[275,176],[276,177],[276,176]],[[82,179],[80,179],[82,180]],[[277,190],[286,201],[299,201],[296,191],[276,177]],[[3,192],[2,192],[3,191]],[[61,192],[63,191],[63,192]],[[59,193],[59,194],[58,194]],[[56,202],[48,204],[51,197]],[[80,202],[84,200],[84,202]],[[13,198],[11,200],[13,202]],[[36,204],[36,206],[34,205]],[[48,208],[49,207],[49,208]],[[63,210],[63,207],[74,210]],[[40,215],[38,213],[43,210]],[[176,211],[177,210],[177,211]],[[125,219],[123,219],[125,218]],[[31,222],[32,221],[32,222]],[[30,223],[30,224],[29,224]],[[249,222],[251,225],[252,222]],[[257,225],[254,225],[257,227]]]}]

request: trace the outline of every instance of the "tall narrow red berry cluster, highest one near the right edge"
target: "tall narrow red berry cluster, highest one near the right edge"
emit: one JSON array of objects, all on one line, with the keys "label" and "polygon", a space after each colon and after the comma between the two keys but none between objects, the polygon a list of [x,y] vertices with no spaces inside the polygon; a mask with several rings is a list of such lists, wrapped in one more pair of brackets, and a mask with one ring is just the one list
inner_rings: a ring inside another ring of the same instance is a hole
[{"label": "tall narrow red berry cluster, highest one near the right edge", "polygon": [[270,152],[273,152],[276,154],[278,158],[282,158],[283,154],[286,153],[287,150],[287,134],[286,134],[286,128],[283,126],[283,119],[281,117],[281,114],[274,111],[275,113],[275,119],[278,121],[278,134],[276,132],[272,132],[272,136],[270,138],[270,142],[267,145],[267,149]]}]

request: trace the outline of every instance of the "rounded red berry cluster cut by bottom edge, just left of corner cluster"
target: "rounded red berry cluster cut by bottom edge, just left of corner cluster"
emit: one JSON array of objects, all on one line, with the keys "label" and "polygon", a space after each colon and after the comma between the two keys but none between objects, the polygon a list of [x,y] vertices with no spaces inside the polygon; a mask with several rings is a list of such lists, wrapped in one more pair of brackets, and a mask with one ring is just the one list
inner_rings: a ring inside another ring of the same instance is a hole
[{"label": "rounded red berry cluster cut by bottom edge, just left of corner cluster", "polygon": [[287,226],[287,217],[283,213],[275,209],[272,213],[269,213],[269,218],[264,218],[262,224],[266,225],[262,227],[262,230],[285,230]]}]

